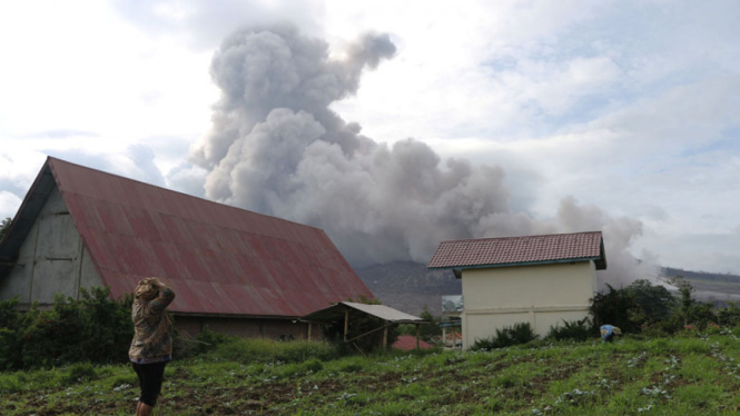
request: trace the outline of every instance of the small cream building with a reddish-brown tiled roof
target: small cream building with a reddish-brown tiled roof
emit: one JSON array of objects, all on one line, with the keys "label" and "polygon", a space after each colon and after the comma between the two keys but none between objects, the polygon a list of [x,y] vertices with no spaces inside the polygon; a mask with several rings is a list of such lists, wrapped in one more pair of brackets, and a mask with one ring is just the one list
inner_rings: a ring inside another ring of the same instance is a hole
[{"label": "small cream building with a reddish-brown tiled roof", "polygon": [[427,264],[462,279],[463,348],[530,323],[544,336],[589,316],[596,270],[606,268],[601,231],[442,241]]}]

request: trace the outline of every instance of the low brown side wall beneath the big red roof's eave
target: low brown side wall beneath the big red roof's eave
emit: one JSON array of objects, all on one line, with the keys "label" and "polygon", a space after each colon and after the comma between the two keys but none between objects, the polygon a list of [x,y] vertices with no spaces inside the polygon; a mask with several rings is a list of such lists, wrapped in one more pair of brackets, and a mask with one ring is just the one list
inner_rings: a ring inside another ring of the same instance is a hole
[{"label": "low brown side wall beneath the big red roof's eave", "polygon": [[[207,326],[208,329],[227,335],[247,338],[306,339],[308,325],[289,319],[221,318],[175,315],[175,326],[187,336],[195,338]],[[312,339],[320,339],[320,330],[312,330]]]}]

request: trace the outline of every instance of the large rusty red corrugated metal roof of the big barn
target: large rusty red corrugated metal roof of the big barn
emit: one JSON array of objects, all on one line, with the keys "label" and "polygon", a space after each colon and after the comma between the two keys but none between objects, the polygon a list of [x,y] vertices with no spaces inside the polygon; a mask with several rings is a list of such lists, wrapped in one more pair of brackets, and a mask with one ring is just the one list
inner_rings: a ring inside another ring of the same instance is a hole
[{"label": "large rusty red corrugated metal roof of the big barn", "polygon": [[373,298],[318,228],[55,158],[47,169],[115,298],[148,276],[172,287],[177,313],[299,317]]}]

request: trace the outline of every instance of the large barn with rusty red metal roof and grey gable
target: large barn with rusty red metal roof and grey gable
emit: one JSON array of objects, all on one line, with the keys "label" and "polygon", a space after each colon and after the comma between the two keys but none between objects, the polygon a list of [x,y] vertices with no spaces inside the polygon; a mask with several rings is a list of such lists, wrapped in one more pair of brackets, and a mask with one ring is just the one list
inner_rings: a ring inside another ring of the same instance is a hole
[{"label": "large barn with rusty red metal roof and grey gable", "polygon": [[298,317],[373,299],[318,228],[48,158],[0,241],[0,299],[119,298],[149,276],[190,334],[305,338]]}]

